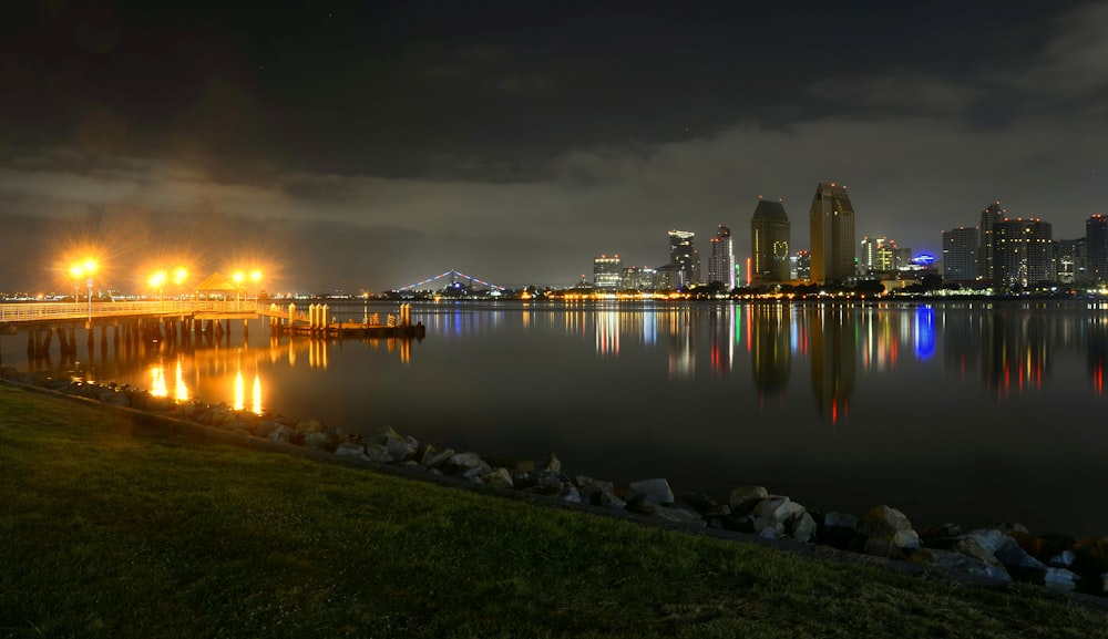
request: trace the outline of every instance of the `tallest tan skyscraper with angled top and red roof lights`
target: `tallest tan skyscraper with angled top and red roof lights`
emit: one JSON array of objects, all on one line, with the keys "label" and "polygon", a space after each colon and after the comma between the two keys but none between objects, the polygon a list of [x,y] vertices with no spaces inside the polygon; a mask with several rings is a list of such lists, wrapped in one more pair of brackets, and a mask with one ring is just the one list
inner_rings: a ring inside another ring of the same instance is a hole
[{"label": "tallest tan skyscraper with angled top and red roof lights", "polygon": [[845,185],[819,183],[809,221],[812,279],[830,284],[854,277],[854,207]]}]

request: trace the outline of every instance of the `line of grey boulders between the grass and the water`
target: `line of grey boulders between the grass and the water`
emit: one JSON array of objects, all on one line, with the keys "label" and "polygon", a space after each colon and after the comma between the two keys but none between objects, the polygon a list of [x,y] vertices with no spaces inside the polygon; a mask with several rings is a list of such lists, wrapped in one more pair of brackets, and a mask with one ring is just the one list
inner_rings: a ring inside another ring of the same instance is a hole
[{"label": "line of grey boulders between the grass and the water", "polygon": [[479,454],[423,444],[389,426],[369,436],[343,434],[316,420],[257,415],[226,404],[177,402],[114,383],[94,384],[0,368],[0,379],[19,384],[135,409],[256,437],[326,451],[343,458],[419,468],[499,489],[514,489],[567,504],[588,504],[613,512],[644,515],[691,529],[715,528],[762,539],[825,546],[871,557],[907,561],[997,584],[1026,583],[1061,591],[1108,597],[1108,537],[1077,539],[1036,535],[1018,524],[963,530],[943,524],[916,530],[900,511],[880,505],[861,516],[820,513],[762,486],[741,486],[726,501],[701,494],[675,495],[664,478],[616,486],[612,482],[571,476],[551,455],[515,468],[494,466]]}]

